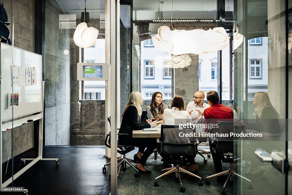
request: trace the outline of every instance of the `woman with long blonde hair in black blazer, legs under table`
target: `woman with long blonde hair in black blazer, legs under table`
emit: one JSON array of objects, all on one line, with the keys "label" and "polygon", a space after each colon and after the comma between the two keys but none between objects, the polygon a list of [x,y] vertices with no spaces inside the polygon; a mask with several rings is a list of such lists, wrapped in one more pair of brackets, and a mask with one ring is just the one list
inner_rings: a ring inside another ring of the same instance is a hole
[{"label": "woman with long blonde hair in black blazer, legs under table", "polygon": [[[134,160],[138,161],[137,169],[139,173],[150,173],[144,165],[148,157],[153,153],[156,146],[155,138],[133,138],[133,130],[141,130],[156,126],[156,120],[153,122],[141,122],[142,115],[142,96],[140,92],[132,92],[129,101],[122,113],[122,122],[119,133],[128,134],[119,135],[118,139],[121,144],[139,146],[139,151],[134,155]],[[145,150],[145,148],[147,148]]]}]

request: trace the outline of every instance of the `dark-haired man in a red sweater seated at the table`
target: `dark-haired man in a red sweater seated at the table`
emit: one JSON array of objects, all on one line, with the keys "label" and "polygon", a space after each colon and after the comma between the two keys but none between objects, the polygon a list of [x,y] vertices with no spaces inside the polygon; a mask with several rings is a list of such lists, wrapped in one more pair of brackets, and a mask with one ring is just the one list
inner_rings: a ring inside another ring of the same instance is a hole
[{"label": "dark-haired man in a red sweater seated at the table", "polygon": [[[214,119],[230,119],[233,121],[233,111],[231,108],[228,108],[227,106],[223,106],[219,103],[219,95],[215,91],[209,91],[207,92],[207,101],[210,105],[209,108],[206,108],[204,110],[204,119],[205,123],[208,125],[208,123],[216,123],[217,120]],[[230,121],[229,120],[229,121]],[[212,131],[213,130],[213,131]],[[215,129],[208,129],[206,128],[207,132],[215,133]],[[217,142],[214,141],[212,143],[212,147],[216,148]],[[222,172],[222,163],[221,163],[221,156],[219,153],[215,153],[213,150],[211,150],[212,158],[215,166],[215,172],[219,173]],[[218,176],[217,181],[223,180],[223,177]]]}]

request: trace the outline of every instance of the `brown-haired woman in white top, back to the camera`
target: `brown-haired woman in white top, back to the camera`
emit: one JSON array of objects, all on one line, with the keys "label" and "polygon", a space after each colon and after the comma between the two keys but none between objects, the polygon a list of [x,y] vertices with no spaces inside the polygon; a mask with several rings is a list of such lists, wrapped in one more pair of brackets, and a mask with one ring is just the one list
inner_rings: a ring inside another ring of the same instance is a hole
[{"label": "brown-haired woman in white top, back to the camera", "polygon": [[[192,117],[188,111],[184,111],[185,104],[183,98],[181,96],[175,96],[171,101],[171,109],[166,109],[163,113],[163,124],[165,125],[178,125],[180,123],[192,123]],[[171,137],[177,138],[178,142],[184,141],[186,143],[190,143],[190,139],[188,137],[178,137],[178,135],[173,135]],[[185,140],[182,140],[185,139]],[[183,167],[187,171],[193,172],[197,171],[199,166],[196,165],[194,156],[187,156],[187,161],[190,163],[190,166]],[[196,172],[197,173],[197,172]]]}]

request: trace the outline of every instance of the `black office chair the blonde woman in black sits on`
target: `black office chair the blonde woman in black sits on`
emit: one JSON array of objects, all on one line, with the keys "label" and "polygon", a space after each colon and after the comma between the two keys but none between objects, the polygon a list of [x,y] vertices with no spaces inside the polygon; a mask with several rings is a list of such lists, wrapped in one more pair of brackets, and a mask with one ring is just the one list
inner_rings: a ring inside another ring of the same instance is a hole
[{"label": "black office chair the blonde woman in black sits on", "polygon": [[[107,118],[107,120],[109,121],[109,125],[110,125],[110,117]],[[107,146],[108,148],[110,148],[110,132],[109,134],[107,134],[106,138],[105,138],[105,146]],[[117,135],[125,135],[127,136],[127,139],[128,139],[128,134],[125,134],[125,133],[118,133]],[[126,158],[126,153],[129,153],[131,152],[132,150],[135,149],[135,147],[139,147],[139,146],[128,146],[127,144],[120,144],[119,143],[119,140],[117,141],[117,152],[121,155],[123,155],[122,158],[118,159],[117,162],[118,162],[118,166],[119,167],[120,165],[123,166],[123,171],[126,171],[126,164],[130,165],[130,167],[132,167],[136,173],[135,173],[135,177],[139,177],[139,174],[138,174],[138,170],[134,167],[134,165],[132,165],[132,163],[138,163],[132,159],[129,159],[129,158]],[[107,165],[110,165],[110,162],[109,163],[106,163],[103,165],[103,168],[102,168],[102,172],[105,172],[107,170],[107,168],[105,166]],[[110,175],[109,175],[109,178],[110,178]]]}]

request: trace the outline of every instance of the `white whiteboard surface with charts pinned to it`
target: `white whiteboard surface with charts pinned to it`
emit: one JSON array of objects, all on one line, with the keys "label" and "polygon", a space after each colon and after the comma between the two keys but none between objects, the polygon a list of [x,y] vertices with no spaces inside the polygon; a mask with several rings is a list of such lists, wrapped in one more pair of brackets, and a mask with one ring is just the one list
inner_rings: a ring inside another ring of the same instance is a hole
[{"label": "white whiteboard surface with charts pinned to it", "polygon": [[[12,61],[13,51],[13,61]],[[13,107],[13,118],[43,110],[42,56],[17,47],[1,43],[1,118],[12,119],[12,108],[8,108],[8,92],[12,93],[12,65],[36,67],[35,85],[13,86],[13,93],[19,93],[19,106]]]}]

